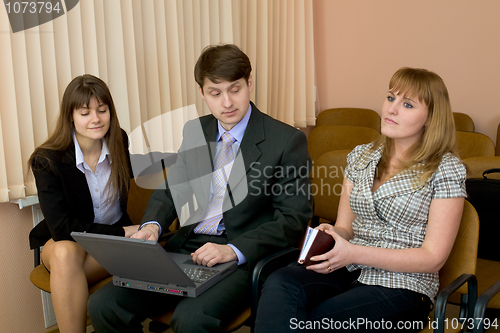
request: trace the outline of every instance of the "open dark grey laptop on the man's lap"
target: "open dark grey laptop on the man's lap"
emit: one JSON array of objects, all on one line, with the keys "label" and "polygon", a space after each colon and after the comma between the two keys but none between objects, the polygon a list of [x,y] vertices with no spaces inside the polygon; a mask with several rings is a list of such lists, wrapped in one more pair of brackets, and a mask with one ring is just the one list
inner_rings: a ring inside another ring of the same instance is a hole
[{"label": "open dark grey laptop on the man's lap", "polygon": [[236,271],[231,261],[214,267],[193,263],[189,254],[166,252],[154,241],[72,232],[71,236],[124,288],[197,297]]}]

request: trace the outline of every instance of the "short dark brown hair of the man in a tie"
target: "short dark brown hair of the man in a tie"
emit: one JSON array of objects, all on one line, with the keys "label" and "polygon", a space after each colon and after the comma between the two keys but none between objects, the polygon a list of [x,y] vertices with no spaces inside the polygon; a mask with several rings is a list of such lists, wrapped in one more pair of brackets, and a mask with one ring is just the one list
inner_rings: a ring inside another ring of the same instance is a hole
[{"label": "short dark brown hair of the man in a tie", "polygon": [[248,84],[251,71],[250,59],[238,46],[210,45],[203,50],[194,66],[194,79],[203,91],[205,78],[213,83],[244,78]]}]

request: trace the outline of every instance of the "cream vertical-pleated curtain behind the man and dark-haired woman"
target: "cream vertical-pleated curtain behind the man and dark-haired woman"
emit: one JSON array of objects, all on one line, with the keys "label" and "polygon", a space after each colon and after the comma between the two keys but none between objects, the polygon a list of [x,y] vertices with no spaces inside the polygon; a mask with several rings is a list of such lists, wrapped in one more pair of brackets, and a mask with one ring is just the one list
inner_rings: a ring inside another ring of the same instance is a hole
[{"label": "cream vertical-pleated curtain behind the man and dark-haired woman", "polygon": [[16,33],[0,9],[0,32],[0,202],[36,194],[27,160],[84,73],[108,84],[131,153],[175,152],[184,123],[209,113],[193,69],[211,44],[248,54],[259,109],[315,124],[312,0],[80,0]]}]

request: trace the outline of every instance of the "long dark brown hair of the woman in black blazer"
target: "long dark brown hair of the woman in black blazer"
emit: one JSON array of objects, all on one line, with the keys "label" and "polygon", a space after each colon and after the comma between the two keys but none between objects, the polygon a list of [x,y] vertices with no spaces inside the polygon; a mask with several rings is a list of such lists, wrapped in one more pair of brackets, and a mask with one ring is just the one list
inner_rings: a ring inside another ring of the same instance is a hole
[{"label": "long dark brown hair of the woman in black blazer", "polygon": [[106,104],[110,113],[110,125],[104,136],[111,156],[111,176],[106,185],[108,190],[113,189],[110,199],[116,199],[117,194],[121,198],[127,198],[130,181],[130,169],[127,154],[123,144],[122,130],[116,114],[115,104],[111,92],[104,81],[96,76],[84,74],[75,77],[66,87],[56,128],[52,135],[39,147],[35,149],[28,161],[30,168],[34,167],[34,159],[42,159],[45,165],[53,167],[47,151],[63,151],[73,144],[73,111],[89,105],[90,99],[95,97],[99,103]]}]

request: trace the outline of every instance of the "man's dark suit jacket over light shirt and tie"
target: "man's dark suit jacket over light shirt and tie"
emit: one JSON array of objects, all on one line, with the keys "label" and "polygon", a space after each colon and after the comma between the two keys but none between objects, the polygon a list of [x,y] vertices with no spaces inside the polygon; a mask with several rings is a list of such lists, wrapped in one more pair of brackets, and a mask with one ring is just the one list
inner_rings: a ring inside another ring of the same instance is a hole
[{"label": "man's dark suit jacket over light shirt and tie", "polygon": [[[246,257],[248,269],[274,252],[297,246],[313,215],[305,134],[251,105],[252,114],[223,203],[228,242]],[[177,217],[173,198],[182,207],[194,195],[200,207],[167,242],[169,251],[178,251],[187,237],[194,235],[196,222],[204,215],[217,131],[217,119],[212,115],[186,123],[168,184],[155,190],[149,200],[142,222],[158,221],[163,230]],[[242,157],[240,165],[238,157]]]}]

